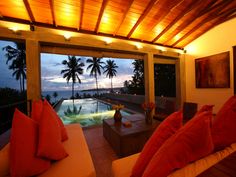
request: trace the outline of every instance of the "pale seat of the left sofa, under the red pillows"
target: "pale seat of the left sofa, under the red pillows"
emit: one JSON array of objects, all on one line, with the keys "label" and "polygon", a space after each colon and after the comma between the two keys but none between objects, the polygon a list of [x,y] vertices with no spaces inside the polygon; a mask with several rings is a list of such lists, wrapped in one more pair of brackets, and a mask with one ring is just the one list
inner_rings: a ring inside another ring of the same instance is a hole
[{"label": "pale seat of the left sofa, under the red pillows", "polygon": [[[68,157],[52,163],[51,167],[38,177],[96,177],[89,149],[79,124],[66,125],[69,139],[63,142]],[[0,176],[8,168],[9,145],[0,151]],[[2,176],[1,176],[2,177]]]}]

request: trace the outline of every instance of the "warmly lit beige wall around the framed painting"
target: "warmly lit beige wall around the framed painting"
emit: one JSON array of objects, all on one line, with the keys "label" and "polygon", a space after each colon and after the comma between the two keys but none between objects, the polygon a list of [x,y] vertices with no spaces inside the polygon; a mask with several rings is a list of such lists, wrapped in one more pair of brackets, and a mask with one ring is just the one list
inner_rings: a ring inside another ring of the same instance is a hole
[{"label": "warmly lit beige wall around the framed painting", "polygon": [[[214,104],[217,113],[222,104],[233,95],[233,48],[236,45],[236,18],[208,31],[185,49],[186,101],[197,102],[199,107]],[[199,57],[230,51],[230,88],[197,89],[195,86],[195,62]]]}]

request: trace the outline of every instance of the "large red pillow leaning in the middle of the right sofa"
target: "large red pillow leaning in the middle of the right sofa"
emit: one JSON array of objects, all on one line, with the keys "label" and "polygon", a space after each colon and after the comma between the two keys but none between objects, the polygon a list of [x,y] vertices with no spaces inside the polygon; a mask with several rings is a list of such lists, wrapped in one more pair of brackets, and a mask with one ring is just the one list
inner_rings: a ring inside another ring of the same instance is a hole
[{"label": "large red pillow leaning in the middle of the right sofa", "polygon": [[203,112],[180,128],[156,152],[143,177],[166,177],[172,171],[198,160],[213,150],[211,112]]}]

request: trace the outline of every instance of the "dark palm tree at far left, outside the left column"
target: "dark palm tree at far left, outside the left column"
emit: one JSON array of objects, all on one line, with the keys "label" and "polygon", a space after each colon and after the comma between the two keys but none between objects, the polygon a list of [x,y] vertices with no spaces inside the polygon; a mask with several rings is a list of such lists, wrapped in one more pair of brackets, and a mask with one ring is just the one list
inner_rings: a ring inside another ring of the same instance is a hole
[{"label": "dark palm tree at far left, outside the left column", "polygon": [[12,76],[15,76],[16,80],[20,80],[20,90],[23,92],[25,90],[25,79],[26,79],[26,54],[25,54],[25,44],[15,43],[16,47],[10,45],[3,47],[6,53],[6,64],[12,61],[9,65],[9,69],[13,70]]}]

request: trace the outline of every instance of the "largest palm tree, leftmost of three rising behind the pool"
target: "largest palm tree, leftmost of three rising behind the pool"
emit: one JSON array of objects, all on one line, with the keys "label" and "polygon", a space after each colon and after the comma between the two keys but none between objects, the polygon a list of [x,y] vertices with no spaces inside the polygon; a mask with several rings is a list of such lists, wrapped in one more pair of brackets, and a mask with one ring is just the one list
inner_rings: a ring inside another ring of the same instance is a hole
[{"label": "largest palm tree, leftmost of three rising behind the pool", "polygon": [[68,56],[68,60],[63,60],[62,64],[66,66],[66,69],[61,71],[63,78],[66,78],[67,83],[72,79],[72,99],[74,100],[74,84],[76,81],[81,83],[79,75],[83,74],[84,63],[80,62],[80,58],[75,56]]}]

